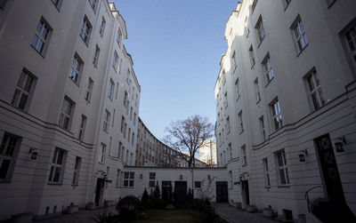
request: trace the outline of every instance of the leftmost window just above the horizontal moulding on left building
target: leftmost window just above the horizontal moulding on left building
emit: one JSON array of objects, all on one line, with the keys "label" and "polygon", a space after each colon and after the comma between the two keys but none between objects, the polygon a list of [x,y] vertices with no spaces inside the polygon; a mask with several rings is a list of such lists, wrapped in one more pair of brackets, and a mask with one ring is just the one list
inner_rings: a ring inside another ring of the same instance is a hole
[{"label": "leftmost window just above the horizontal moulding on left building", "polygon": [[36,77],[28,72],[26,68],[23,68],[20,74],[19,81],[17,83],[15,92],[12,97],[12,105],[25,109],[28,103],[28,99],[31,96],[32,86],[35,85]]}]

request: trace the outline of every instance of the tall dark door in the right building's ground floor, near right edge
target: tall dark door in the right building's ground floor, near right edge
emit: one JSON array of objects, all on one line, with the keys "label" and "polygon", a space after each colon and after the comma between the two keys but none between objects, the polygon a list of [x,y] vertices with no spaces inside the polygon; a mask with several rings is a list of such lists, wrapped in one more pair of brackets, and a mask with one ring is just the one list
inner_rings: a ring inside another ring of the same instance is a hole
[{"label": "tall dark door in the right building's ground floor, near right edge", "polygon": [[327,189],[328,200],[334,203],[345,203],[344,190],[337,170],[330,136],[328,134],[320,136],[314,139],[314,142],[318,150],[320,169],[324,179],[324,187]]}]

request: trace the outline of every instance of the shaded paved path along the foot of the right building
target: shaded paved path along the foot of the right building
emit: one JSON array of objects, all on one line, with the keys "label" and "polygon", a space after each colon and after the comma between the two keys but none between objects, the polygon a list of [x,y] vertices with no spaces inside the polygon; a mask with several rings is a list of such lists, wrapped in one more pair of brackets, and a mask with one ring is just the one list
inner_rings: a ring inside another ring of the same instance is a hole
[{"label": "shaded paved path along the foot of the right building", "polygon": [[223,219],[229,220],[231,223],[275,223],[278,220],[267,219],[263,213],[255,212],[248,213],[247,211],[238,210],[236,207],[230,206],[228,203],[215,203],[214,209]]}]

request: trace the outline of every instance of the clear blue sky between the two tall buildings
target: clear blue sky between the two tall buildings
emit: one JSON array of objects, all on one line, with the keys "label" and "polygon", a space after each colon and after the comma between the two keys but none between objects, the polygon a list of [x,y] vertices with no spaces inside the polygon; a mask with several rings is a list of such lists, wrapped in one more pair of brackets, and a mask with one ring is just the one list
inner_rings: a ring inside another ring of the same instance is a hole
[{"label": "clear blue sky between the two tall buildings", "polygon": [[172,121],[190,115],[214,123],[214,84],[227,47],[223,32],[237,0],[115,2],[142,87],[143,123],[158,139]]}]

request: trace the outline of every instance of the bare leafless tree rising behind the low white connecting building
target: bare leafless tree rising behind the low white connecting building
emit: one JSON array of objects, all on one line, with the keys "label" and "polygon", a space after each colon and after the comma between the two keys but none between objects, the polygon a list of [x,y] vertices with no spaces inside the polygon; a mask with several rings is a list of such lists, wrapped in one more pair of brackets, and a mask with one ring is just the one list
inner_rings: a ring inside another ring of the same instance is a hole
[{"label": "bare leafless tree rising behind the low white connecting building", "polygon": [[170,147],[180,154],[188,152],[188,155],[180,155],[180,158],[195,167],[195,155],[199,147],[204,146],[206,139],[213,137],[214,126],[206,117],[192,115],[184,120],[172,122],[166,127],[165,141]]}]

